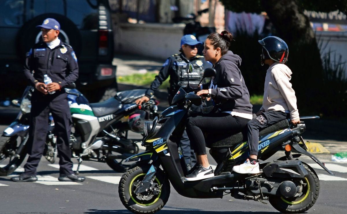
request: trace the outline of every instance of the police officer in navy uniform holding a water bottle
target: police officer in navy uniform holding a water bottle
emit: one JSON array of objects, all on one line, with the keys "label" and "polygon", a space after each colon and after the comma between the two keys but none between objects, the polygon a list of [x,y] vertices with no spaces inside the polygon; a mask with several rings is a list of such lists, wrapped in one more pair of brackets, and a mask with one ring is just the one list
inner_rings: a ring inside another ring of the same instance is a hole
[{"label": "police officer in navy uniform holding a water bottle", "polygon": [[[64,87],[78,78],[77,58],[72,47],[58,38],[60,24],[57,20],[47,18],[42,25],[36,27],[41,28],[44,42],[34,45],[27,55],[24,66],[26,78],[35,87],[31,98],[31,124],[27,147],[29,157],[24,166],[24,173],[11,180],[37,181],[36,168],[44,150],[49,113],[52,113],[60,165],[58,180],[82,182],[85,178],[75,175],[72,170],[69,147],[72,119],[64,90]],[[52,83],[47,85],[44,83],[45,74],[51,77]],[[49,93],[53,91],[55,93]]]}]

